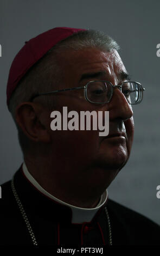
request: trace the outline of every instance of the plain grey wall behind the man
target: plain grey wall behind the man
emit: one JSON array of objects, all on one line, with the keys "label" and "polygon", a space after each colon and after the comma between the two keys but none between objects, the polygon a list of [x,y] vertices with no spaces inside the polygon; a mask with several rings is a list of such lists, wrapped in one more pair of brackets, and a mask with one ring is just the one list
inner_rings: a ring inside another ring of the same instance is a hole
[{"label": "plain grey wall behind the man", "polygon": [[160,224],[160,199],[156,197],[160,185],[159,9],[159,0],[1,0],[0,184],[10,179],[22,162],[17,131],[5,103],[9,68],[16,53],[24,41],[53,27],[98,29],[117,40],[132,80],[146,88],[144,101],[133,108],[135,142],[130,160],[108,188],[109,197]]}]

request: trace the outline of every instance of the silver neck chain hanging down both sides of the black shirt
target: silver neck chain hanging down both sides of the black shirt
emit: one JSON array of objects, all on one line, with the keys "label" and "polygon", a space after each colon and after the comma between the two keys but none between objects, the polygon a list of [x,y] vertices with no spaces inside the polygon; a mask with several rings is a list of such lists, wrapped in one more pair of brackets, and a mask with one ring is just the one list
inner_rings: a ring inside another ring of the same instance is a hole
[{"label": "silver neck chain hanging down both sides of the black shirt", "polygon": [[[20,209],[21,211],[21,214],[22,214],[22,217],[23,217],[23,220],[25,221],[25,224],[27,226],[27,229],[28,229],[28,232],[30,234],[30,237],[31,237],[31,241],[33,242],[33,244],[35,246],[38,245],[37,241],[36,241],[36,237],[35,237],[35,234],[33,232],[33,229],[31,228],[31,225],[29,223],[29,220],[28,220],[28,217],[24,211],[24,208],[23,208],[23,205],[21,203],[21,200],[20,198],[18,197],[18,194],[16,192],[16,188],[15,188],[15,185],[14,185],[14,176],[11,180],[11,188],[12,188],[12,192],[14,194],[14,197],[16,199],[16,202],[17,202],[17,205],[18,205],[18,208]],[[108,230],[109,230],[109,245],[112,245],[112,230],[111,230],[111,222],[110,222],[110,217],[108,215],[108,211],[107,211],[107,208],[105,206],[105,212],[106,212],[106,216],[107,216],[107,221],[108,221]]]}]

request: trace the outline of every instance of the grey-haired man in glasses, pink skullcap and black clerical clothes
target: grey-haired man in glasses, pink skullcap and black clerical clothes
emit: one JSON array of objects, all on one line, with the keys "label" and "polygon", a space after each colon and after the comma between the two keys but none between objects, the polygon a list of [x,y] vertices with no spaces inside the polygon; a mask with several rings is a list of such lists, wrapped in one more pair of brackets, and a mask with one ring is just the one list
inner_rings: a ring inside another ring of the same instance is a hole
[{"label": "grey-haired man in glasses, pink skullcap and black clerical clothes", "polygon": [[[59,27],[15,57],[7,103],[24,162],[2,185],[2,245],[158,245],[157,224],[108,199],[131,152],[131,105],[144,90],[130,82],[118,48],[104,33]],[[103,122],[109,112],[109,134],[53,131],[51,113],[64,106],[101,111]]]}]

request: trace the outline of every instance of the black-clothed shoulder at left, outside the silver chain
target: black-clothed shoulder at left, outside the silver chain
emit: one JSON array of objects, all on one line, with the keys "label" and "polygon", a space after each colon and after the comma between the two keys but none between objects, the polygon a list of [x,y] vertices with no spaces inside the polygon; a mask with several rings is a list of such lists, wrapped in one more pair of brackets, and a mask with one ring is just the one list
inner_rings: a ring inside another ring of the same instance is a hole
[{"label": "black-clothed shoulder at left, outside the silver chain", "polygon": [[0,199],[0,246],[30,244],[30,237],[25,232],[25,223],[18,209],[11,181],[1,185],[2,198]]}]

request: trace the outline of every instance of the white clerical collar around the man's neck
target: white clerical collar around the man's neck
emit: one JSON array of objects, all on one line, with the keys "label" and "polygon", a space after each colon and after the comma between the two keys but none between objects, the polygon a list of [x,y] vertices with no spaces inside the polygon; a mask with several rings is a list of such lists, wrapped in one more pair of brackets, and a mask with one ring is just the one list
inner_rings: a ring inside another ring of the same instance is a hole
[{"label": "white clerical collar around the man's neck", "polygon": [[40,184],[29,173],[25,163],[23,163],[22,170],[25,177],[31,182],[31,184],[33,184],[37,188],[37,190],[45,194],[47,197],[53,199],[54,201],[59,202],[60,204],[69,206],[69,208],[72,209],[72,223],[91,222],[96,212],[101,208],[101,206],[103,206],[106,203],[106,200],[108,198],[108,191],[106,189],[106,191],[101,195],[100,201],[95,208],[89,208],[89,209],[80,208],[80,207],[65,203],[60,199],[57,199],[56,197],[52,196],[52,194],[48,193],[46,190],[44,190],[44,188],[41,187]]}]

